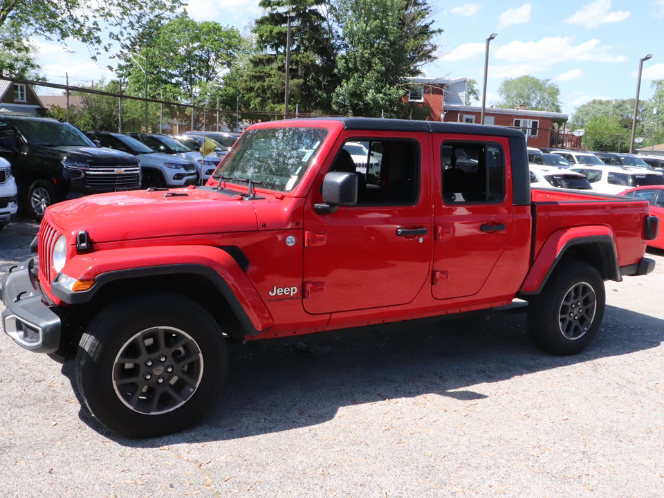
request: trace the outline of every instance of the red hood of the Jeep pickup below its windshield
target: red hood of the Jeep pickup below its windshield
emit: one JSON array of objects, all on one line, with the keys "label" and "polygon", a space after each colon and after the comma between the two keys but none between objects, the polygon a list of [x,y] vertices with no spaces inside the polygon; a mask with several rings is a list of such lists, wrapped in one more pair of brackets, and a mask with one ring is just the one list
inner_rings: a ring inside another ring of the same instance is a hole
[{"label": "red hood of the Jeep pickup below its windshield", "polygon": [[191,187],[95,194],[50,206],[46,216],[66,232],[86,230],[95,243],[258,229],[250,203]]}]

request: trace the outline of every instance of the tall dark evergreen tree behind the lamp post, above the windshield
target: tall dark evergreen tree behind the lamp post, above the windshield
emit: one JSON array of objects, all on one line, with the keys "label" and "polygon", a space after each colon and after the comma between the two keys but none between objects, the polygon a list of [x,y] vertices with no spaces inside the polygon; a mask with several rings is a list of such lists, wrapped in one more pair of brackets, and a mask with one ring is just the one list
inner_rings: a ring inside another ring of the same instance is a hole
[{"label": "tall dark evergreen tree behind the lamp post, above the windshield", "polygon": [[337,84],[337,44],[326,0],[261,0],[259,6],[266,13],[253,28],[257,50],[243,76],[252,91],[243,95],[243,102],[252,109],[284,109],[288,12],[292,12],[289,100],[303,111],[329,112]]}]

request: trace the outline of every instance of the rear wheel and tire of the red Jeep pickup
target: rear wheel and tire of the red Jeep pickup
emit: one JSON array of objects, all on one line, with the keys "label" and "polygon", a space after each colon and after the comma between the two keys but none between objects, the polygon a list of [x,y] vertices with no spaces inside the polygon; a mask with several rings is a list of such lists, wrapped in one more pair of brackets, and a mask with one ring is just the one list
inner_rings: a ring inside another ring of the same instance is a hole
[{"label": "rear wheel and tire of the red Jeep pickup", "polygon": [[605,301],[604,281],[596,268],[581,261],[561,261],[542,293],[528,304],[528,329],[549,353],[578,354],[597,335]]}]

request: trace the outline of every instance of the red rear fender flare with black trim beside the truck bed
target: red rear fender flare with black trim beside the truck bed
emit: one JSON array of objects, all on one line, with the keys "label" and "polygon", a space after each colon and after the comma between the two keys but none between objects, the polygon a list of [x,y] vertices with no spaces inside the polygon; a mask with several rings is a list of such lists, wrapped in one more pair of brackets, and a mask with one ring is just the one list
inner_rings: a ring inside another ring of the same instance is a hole
[{"label": "red rear fender flare with black trim beside the truck bed", "polygon": [[602,260],[601,263],[607,268],[609,279],[620,282],[622,278],[620,277],[620,268],[618,268],[618,252],[614,234],[610,228],[603,225],[562,228],[553,232],[544,242],[542,249],[533,261],[531,270],[528,271],[528,275],[524,279],[519,295],[539,294],[566,250],[571,246],[590,243],[598,244],[602,248],[605,259],[611,259],[611,261]]}]

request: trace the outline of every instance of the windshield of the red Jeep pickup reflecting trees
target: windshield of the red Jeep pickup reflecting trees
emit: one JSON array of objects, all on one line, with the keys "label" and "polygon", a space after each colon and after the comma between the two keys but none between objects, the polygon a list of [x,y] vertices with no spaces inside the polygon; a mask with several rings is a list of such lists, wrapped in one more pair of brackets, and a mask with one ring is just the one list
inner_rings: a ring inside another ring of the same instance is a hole
[{"label": "windshield of the red Jeep pickup reflecting trees", "polygon": [[262,182],[263,188],[289,192],[304,176],[327,133],[325,128],[246,131],[216,169],[214,178],[232,183],[250,179]]}]

